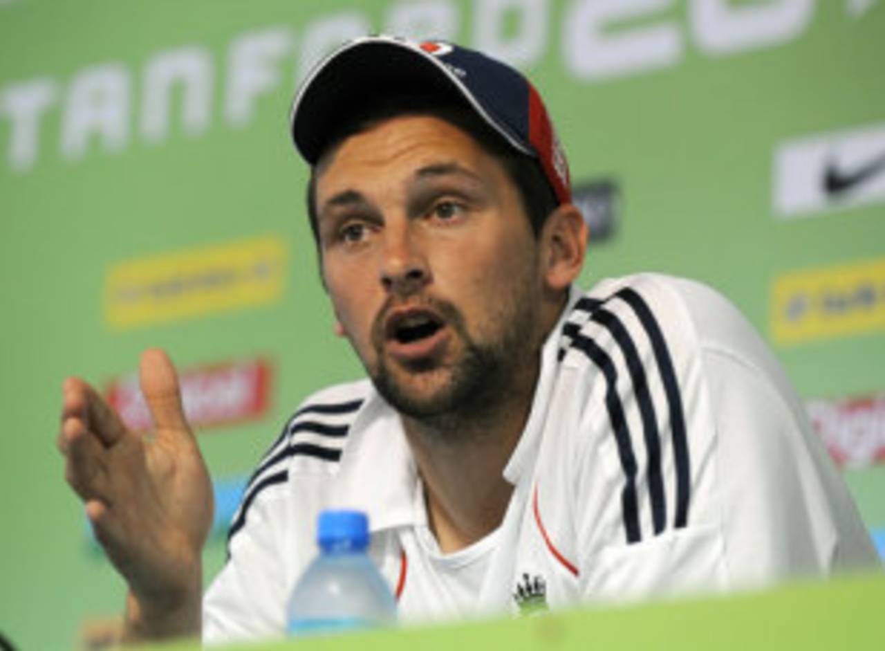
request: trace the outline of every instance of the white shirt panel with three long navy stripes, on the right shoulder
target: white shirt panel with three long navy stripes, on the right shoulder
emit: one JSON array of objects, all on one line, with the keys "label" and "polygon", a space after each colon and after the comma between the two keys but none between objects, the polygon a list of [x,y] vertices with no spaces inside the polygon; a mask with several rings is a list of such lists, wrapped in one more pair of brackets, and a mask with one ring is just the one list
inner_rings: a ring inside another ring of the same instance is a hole
[{"label": "white shirt panel with three long navy stripes, on the right shoulder", "polygon": [[588,354],[564,359],[588,365],[573,453],[582,597],[725,589],[717,432],[688,314],[654,277],[604,283],[597,292],[572,342]]}]

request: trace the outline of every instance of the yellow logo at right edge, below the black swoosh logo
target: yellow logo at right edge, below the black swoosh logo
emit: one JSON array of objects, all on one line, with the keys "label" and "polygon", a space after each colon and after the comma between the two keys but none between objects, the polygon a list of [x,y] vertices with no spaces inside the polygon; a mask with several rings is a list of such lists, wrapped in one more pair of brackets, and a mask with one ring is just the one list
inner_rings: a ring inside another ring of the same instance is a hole
[{"label": "yellow logo at right edge, below the black swoosh logo", "polygon": [[771,328],[781,344],[885,329],[885,259],[781,275]]}]

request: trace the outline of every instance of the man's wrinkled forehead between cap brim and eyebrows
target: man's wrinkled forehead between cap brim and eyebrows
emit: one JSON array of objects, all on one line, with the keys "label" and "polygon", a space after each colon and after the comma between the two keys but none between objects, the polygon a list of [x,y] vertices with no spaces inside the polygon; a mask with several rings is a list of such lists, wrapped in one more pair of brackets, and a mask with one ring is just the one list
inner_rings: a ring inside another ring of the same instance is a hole
[{"label": "man's wrinkled forehead between cap brim and eyebrows", "polygon": [[316,168],[317,198],[342,185],[387,182],[441,162],[495,176],[504,171],[464,129],[432,115],[401,115],[373,123],[328,151]]}]

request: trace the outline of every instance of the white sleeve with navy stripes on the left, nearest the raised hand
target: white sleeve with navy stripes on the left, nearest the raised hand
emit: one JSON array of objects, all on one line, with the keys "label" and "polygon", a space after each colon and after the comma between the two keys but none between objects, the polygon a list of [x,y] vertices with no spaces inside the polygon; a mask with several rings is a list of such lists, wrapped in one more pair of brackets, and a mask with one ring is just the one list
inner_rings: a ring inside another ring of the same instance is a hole
[{"label": "white sleeve with navy stripes on the left, nearest the raised hand", "polygon": [[205,643],[285,631],[289,594],[316,553],[316,517],[367,385],[314,393],[258,463],[227,534],[227,563],[204,596]]}]

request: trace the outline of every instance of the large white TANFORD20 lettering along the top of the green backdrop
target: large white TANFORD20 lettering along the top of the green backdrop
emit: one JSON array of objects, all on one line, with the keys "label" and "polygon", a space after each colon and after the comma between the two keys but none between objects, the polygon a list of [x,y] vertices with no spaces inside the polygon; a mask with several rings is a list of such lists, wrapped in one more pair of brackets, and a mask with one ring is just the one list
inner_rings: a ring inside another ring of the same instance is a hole
[{"label": "large white TANFORD20 lettering along the top of the green backdrop", "polygon": [[[841,6],[860,19],[869,2]],[[808,32],[822,4],[573,0],[560,8],[535,0],[476,3],[464,12],[454,0],[436,0],[389,2],[376,21],[354,0],[346,11],[318,12],[298,29],[269,24],[231,35],[224,52],[186,43],[132,65],[97,62],[69,77],[46,71],[7,83],[0,87],[0,136],[8,134],[0,137],[0,158],[27,172],[46,158],[47,149],[79,161],[94,151],[162,143],[176,130],[203,137],[213,121],[248,127],[270,105],[269,97],[291,95],[293,66],[296,78],[304,79],[342,41],[369,33],[414,40],[469,33],[473,40],[465,44],[516,66],[557,57],[573,80],[595,83],[681,66],[689,51],[715,66],[720,58],[792,43]]]}]

